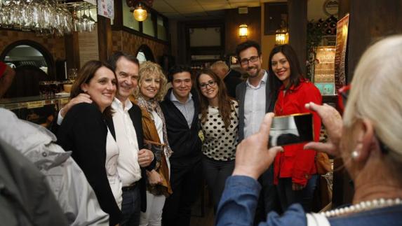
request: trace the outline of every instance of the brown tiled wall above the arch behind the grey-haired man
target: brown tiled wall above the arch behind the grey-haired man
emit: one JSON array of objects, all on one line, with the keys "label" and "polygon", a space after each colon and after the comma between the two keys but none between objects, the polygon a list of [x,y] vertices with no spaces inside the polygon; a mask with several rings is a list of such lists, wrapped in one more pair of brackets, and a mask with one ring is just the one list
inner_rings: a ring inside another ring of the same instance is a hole
[{"label": "brown tiled wall above the arch behind the grey-haired man", "polygon": [[123,51],[135,55],[141,45],[148,45],[156,62],[163,54],[168,54],[168,45],[142,38],[127,31],[112,31],[113,51]]}]

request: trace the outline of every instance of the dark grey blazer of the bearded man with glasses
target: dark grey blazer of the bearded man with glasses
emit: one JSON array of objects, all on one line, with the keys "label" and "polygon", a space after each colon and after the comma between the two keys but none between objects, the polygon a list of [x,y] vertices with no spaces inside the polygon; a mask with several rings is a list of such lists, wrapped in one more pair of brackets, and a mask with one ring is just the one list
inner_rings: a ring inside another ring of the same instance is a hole
[{"label": "dark grey blazer of the bearded man with glasses", "polygon": [[[268,72],[267,72],[268,73]],[[269,76],[269,75],[268,75]],[[271,94],[269,83],[265,85],[265,112],[274,111],[276,94]],[[246,80],[236,86],[236,99],[239,101],[239,143],[244,139],[244,99],[246,99]]]}]

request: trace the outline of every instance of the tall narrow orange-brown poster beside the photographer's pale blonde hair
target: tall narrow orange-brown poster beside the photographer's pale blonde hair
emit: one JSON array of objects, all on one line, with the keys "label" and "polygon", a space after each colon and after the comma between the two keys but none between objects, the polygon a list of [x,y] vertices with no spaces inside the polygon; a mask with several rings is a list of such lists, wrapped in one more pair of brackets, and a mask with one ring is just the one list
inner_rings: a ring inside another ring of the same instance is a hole
[{"label": "tall narrow orange-brown poster beside the photographer's pale blonde hair", "polygon": [[339,90],[346,83],[347,64],[347,33],[349,27],[349,14],[337,22],[335,47],[335,90]]}]

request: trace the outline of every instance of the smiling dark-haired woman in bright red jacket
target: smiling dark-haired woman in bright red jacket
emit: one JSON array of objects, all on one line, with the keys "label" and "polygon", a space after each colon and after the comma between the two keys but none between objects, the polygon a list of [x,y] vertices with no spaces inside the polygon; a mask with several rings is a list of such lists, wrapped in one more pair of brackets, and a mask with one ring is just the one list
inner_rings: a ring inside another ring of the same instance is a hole
[{"label": "smiling dark-haired woman in bright red jacket", "polygon": [[[304,105],[321,104],[322,97],[313,83],[302,75],[300,64],[290,45],[279,45],[269,54],[269,85],[272,94],[278,94],[274,113],[290,115],[309,113]],[[313,113],[313,112],[311,112]],[[321,120],[313,113],[314,139],[319,141]],[[303,143],[284,147],[274,162],[274,184],[279,194],[282,210],[290,204],[300,203],[305,211],[311,211],[311,200],[316,188],[316,164],[314,150],[303,150]]]}]

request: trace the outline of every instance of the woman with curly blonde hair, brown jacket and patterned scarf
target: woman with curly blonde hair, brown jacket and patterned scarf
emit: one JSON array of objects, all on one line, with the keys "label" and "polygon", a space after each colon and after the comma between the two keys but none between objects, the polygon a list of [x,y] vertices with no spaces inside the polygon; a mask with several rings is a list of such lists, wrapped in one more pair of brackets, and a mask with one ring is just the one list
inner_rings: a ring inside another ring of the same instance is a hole
[{"label": "woman with curly blonde hair, brown jacket and patterned scarf", "polygon": [[161,66],[152,62],[142,63],[138,76],[135,103],[142,111],[144,143],[156,157],[155,168],[147,171],[147,211],[141,212],[140,225],[161,225],[163,205],[166,197],[172,194],[169,164],[172,150],[168,144],[165,117],[159,106],[166,94],[167,80]]}]

